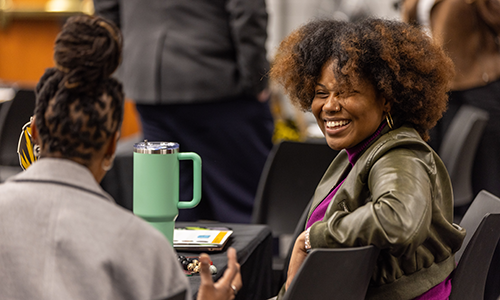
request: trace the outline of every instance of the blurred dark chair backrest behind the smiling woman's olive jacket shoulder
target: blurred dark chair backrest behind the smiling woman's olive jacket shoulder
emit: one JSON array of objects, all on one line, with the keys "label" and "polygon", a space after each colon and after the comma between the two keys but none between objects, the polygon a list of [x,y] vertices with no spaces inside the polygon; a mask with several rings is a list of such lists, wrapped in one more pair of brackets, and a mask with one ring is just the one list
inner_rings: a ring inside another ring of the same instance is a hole
[{"label": "blurred dark chair backrest behind the smiling woman's olive jacket shoulder", "polygon": [[488,119],[487,111],[463,105],[453,118],[439,148],[439,156],[450,174],[455,206],[466,205],[474,197],[472,166]]}]

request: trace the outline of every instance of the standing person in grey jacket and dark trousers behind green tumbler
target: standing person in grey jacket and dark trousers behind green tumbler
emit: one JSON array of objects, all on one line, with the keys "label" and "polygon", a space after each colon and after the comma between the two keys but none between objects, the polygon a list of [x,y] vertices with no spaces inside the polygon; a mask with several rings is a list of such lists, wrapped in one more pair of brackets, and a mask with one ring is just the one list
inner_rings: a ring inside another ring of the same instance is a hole
[{"label": "standing person in grey jacket and dark trousers behind green tumbler", "polygon": [[[203,161],[202,200],[177,220],[249,223],[272,147],[265,0],[94,0],[124,35],[118,77],[144,138]],[[180,199],[191,199],[181,163]]]}]

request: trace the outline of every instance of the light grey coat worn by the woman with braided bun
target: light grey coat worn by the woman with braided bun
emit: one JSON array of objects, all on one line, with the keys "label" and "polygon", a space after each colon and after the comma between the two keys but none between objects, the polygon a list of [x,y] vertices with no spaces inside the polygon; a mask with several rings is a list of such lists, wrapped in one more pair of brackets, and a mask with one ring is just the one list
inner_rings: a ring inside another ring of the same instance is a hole
[{"label": "light grey coat worn by the woman with braided bun", "polygon": [[186,292],[166,238],[89,170],[40,159],[0,184],[2,299],[164,299]]}]

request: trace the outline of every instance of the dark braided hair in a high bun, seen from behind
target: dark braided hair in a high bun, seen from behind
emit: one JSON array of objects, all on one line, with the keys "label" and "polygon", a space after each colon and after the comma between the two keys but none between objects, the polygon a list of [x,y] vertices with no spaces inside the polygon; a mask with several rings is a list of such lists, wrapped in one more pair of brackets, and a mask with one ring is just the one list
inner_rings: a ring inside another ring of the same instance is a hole
[{"label": "dark braided hair in a high bun, seen from behind", "polygon": [[56,38],[54,68],[36,92],[42,155],[58,154],[88,165],[123,120],[122,85],[110,77],[120,63],[122,36],[110,21],[73,16]]}]

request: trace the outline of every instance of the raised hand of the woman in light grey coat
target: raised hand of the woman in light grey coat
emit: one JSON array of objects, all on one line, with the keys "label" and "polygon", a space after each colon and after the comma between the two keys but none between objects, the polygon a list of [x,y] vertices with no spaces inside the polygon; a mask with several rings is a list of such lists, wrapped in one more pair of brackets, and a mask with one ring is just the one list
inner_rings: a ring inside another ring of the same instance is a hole
[{"label": "raised hand of the woman in light grey coat", "polygon": [[198,300],[231,300],[243,286],[241,282],[240,264],[236,260],[236,250],[227,250],[227,269],[224,275],[214,283],[210,273],[210,256],[200,255],[201,284],[198,291]]}]

